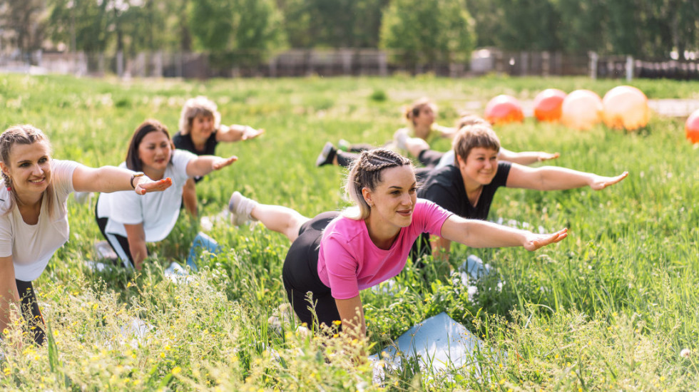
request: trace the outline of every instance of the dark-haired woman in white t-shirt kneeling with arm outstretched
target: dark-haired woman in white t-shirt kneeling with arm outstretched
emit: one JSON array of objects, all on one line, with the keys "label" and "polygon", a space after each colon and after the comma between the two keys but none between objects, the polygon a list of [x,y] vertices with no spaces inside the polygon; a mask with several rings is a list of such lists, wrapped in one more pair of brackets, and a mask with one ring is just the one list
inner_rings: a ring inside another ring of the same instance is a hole
[{"label": "dark-haired woman in white t-shirt kneeling with arm outstretched", "polygon": [[182,187],[195,176],[203,176],[230,165],[237,157],[194,155],[175,150],[165,125],[146,120],[138,125],[121,167],[142,171],[153,179],[171,177],[166,192],[132,197],[131,192],[100,195],[96,206],[97,225],[126,267],[141,269],[148,256],[146,242],[165,239],[175,227],[182,204]]}]

